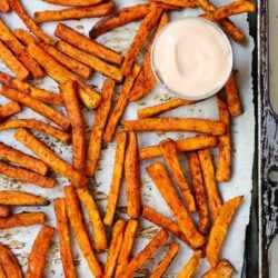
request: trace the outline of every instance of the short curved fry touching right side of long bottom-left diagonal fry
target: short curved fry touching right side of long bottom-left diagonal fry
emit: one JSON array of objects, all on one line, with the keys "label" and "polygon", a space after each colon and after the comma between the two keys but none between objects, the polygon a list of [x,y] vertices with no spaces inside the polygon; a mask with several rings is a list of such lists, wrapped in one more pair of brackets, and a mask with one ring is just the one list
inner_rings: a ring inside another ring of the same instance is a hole
[{"label": "short curved fry touching right side of long bottom-left diagonal fry", "polygon": [[87,187],[77,188],[77,193],[83,203],[93,230],[95,246],[98,250],[107,249],[106,228],[102,222],[98,206]]}]

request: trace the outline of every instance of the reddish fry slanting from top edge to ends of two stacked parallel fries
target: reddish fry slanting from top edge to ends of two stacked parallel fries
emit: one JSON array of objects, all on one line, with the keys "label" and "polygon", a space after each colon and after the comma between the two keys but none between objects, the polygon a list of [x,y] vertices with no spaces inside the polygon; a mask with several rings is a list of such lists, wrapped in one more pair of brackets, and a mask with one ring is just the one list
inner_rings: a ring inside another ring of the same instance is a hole
[{"label": "reddish fry slanting from top edge to ends of two stacked parallel fries", "polygon": [[136,37],[128,52],[125,56],[125,60],[121,66],[121,71],[123,76],[127,77],[130,73],[136,57],[138,56],[140,49],[142,48],[142,44],[148,38],[149,32],[151,31],[152,27],[159,20],[161,13],[162,13],[162,8],[160,8],[156,3],[150,4],[150,11],[143,19],[142,23],[140,24],[136,33]]}]

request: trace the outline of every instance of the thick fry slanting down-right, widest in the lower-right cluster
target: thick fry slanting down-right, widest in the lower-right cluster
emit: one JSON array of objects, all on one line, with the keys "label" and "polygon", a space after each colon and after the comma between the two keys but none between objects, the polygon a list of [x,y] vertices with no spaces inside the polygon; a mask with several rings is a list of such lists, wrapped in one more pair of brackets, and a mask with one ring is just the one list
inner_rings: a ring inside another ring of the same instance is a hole
[{"label": "thick fry slanting down-right, widest in the lower-right cluster", "polygon": [[190,246],[193,248],[201,247],[206,242],[206,239],[196,229],[192,219],[179,199],[165,166],[161,162],[156,162],[147,167],[147,172],[165,198]]}]

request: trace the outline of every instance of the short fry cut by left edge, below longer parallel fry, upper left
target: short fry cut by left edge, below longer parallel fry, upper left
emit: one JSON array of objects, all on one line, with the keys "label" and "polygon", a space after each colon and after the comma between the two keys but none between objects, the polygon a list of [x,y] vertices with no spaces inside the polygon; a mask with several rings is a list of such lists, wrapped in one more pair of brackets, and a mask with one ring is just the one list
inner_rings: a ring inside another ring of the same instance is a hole
[{"label": "short fry cut by left edge, below longer parallel fry, upper left", "polygon": [[0,41],[0,60],[16,73],[16,76],[24,80],[29,77],[28,69],[17,59],[17,57]]}]

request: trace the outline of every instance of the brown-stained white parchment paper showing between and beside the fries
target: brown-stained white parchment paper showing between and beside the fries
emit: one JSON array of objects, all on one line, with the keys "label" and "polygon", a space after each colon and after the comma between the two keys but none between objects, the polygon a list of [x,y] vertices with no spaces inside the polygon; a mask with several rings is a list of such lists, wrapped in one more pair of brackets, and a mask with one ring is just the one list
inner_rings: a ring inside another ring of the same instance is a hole
[{"label": "brown-stained white parchment paper showing between and beside the fries", "polygon": [[[118,0],[116,1],[118,7],[132,6],[136,3],[141,3],[145,1],[125,1]],[[219,1],[214,1],[216,4],[219,4]],[[221,4],[228,3],[229,1],[224,0]],[[22,0],[24,7],[28,8],[30,14],[34,11],[46,10],[46,9],[59,9],[59,6],[48,4],[43,1],[28,1]],[[171,12],[171,19],[183,18],[188,16],[199,14],[199,10],[185,10],[181,12]],[[10,26],[11,29],[14,28],[24,28],[21,20],[14,14],[3,16],[4,21]],[[234,137],[234,173],[232,179],[229,183],[219,185],[221,195],[224,200],[228,200],[234,196],[244,195],[245,200],[241,205],[228,235],[225,248],[222,250],[222,257],[229,259],[231,264],[237,269],[237,274],[235,277],[241,276],[241,269],[244,264],[244,248],[245,248],[245,235],[246,235],[246,226],[249,222],[249,210],[250,210],[250,201],[251,201],[251,188],[252,188],[252,159],[254,159],[254,139],[255,139],[255,117],[254,117],[254,89],[252,89],[252,79],[251,79],[251,59],[252,59],[252,50],[254,50],[254,41],[249,36],[249,27],[247,22],[247,16],[240,14],[237,17],[232,17],[232,20],[244,30],[247,36],[247,41],[244,46],[239,46],[232,42],[232,49],[235,54],[235,66],[234,68],[238,70],[237,75],[237,83],[238,89],[240,91],[240,98],[242,100],[245,113],[232,121],[232,137]],[[72,27],[79,32],[88,34],[91,26],[97,22],[98,19],[86,19],[78,21],[66,21],[67,24]],[[53,33],[54,27],[57,23],[44,23],[42,24],[43,30],[46,30],[49,34]],[[98,40],[101,43],[105,43],[108,47],[113,48],[115,50],[119,50],[121,52],[126,52],[128,49],[136,30],[139,27],[139,22],[130,23],[126,27],[118,28],[102,37]],[[26,29],[26,28],[24,28]],[[0,64],[0,70],[4,72],[9,72],[9,70]],[[89,83],[97,86],[100,90],[102,86],[103,77],[95,73],[92,80]],[[44,78],[43,80],[38,80],[36,83],[42,88],[51,89],[57,91],[57,85],[50,79]],[[146,106],[151,106],[155,103],[160,103],[167,99],[172,98],[172,95],[162,87],[157,87],[155,91],[147,98],[129,105],[125,117],[125,119],[136,119],[136,111],[139,108],[143,108]],[[4,98],[1,97],[1,103],[7,102]],[[60,110],[60,108],[58,108]],[[62,110],[62,109],[61,109]],[[64,112],[62,110],[62,112]],[[90,127],[93,121],[95,112],[88,111],[83,109],[87,119],[87,135],[88,138],[90,136]],[[24,111],[19,115],[19,118],[40,118],[41,120],[48,122],[46,119],[40,117],[39,115],[32,112],[29,109],[24,109]],[[170,112],[162,115],[166,116],[175,116],[175,117],[200,117],[200,118],[209,118],[209,119],[218,119],[217,105],[216,99],[210,98],[206,101],[201,101],[197,105],[181,107],[175,109]],[[71,147],[63,145],[51,137],[47,137],[44,135],[38,135],[38,137],[48,143],[57,153],[59,153],[63,159],[71,161]],[[168,133],[140,133],[139,135],[139,145],[140,147],[158,143],[166,137],[170,137],[172,139],[180,139],[185,137],[195,136],[193,133],[186,132],[168,132]],[[27,153],[31,153],[29,150],[22,147],[19,142],[13,139],[13,131],[2,131],[0,132],[0,140],[10,145],[14,148],[21,149]],[[95,197],[98,201],[100,210],[105,211],[107,203],[107,196],[109,192],[112,166],[113,166],[113,156],[115,156],[115,142],[105,143],[103,151],[101,155],[101,161],[99,163],[98,171],[96,173],[95,179],[90,179],[89,186],[93,189]],[[181,153],[180,159],[182,165],[185,166],[185,170],[187,170],[187,161],[185,156]],[[170,211],[168,210],[163,199],[158,192],[156,186],[151,182],[150,178],[145,171],[145,167],[155,160],[161,159],[152,159],[147,160],[141,163],[142,171],[142,202],[151,206],[155,209],[158,209],[160,212],[166,216],[172,217]],[[22,183],[6,177],[0,177],[1,189],[16,189],[22,191],[34,192],[38,195],[42,195],[49,199],[54,199],[57,197],[63,196],[62,186],[67,185],[67,180],[63,178],[58,178],[59,185],[54,189],[42,189],[36,186]],[[125,182],[123,182],[125,185]],[[123,186],[125,188],[125,186]],[[49,206],[47,208],[18,208],[14,211],[34,211],[41,210],[47,214],[48,222],[52,226],[56,226],[53,207]],[[122,190],[122,195],[119,202],[119,208],[117,210],[117,217],[127,218],[126,214],[126,202],[125,202],[125,190]],[[89,226],[88,226],[89,227]],[[28,254],[31,249],[32,242],[39,231],[40,226],[32,226],[27,228],[13,228],[0,231],[0,242],[8,245],[12,251],[17,255],[20,265],[22,266],[23,271],[27,269],[27,260]],[[159,230],[158,227],[148,222],[147,220],[140,221],[139,235],[135,246],[133,254],[137,254],[139,250],[143,248],[143,246],[153,237],[153,235]],[[46,277],[63,277],[61,260],[59,254],[59,246],[57,244],[57,236],[54,237],[53,245],[51,246],[51,250],[48,256],[48,264],[46,268]],[[77,270],[80,277],[90,277],[91,274],[87,267],[87,262],[85,261],[79,248],[77,247],[77,242],[73,237],[73,257],[75,264],[78,266]],[[177,239],[178,240],[178,239]],[[170,241],[170,240],[169,240]],[[168,241],[168,242],[169,242]],[[140,277],[148,277],[148,274],[151,272],[155,264],[163,256],[167,245],[160,248],[156,256],[149,259],[143,267],[137,272]],[[177,256],[175,262],[171,265],[169,270],[167,271],[165,277],[176,277],[179,270],[185,266],[187,260],[192,255],[192,251],[188,249],[182,242],[179,255]],[[105,262],[106,252],[98,254],[99,259]],[[206,260],[202,260],[200,264],[200,268],[196,277],[200,277],[208,268],[208,264]]]}]

